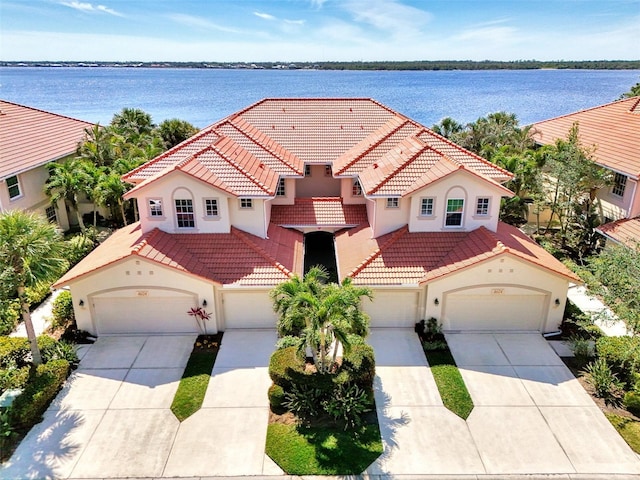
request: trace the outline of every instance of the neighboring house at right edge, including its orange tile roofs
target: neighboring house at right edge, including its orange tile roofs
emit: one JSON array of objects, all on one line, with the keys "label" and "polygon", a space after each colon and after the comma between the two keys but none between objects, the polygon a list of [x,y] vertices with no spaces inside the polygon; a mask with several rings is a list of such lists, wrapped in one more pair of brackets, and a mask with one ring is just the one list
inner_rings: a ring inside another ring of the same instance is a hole
[{"label": "neighboring house at right edge, including its orange tile roofs", "polygon": [[566,139],[575,122],[582,145],[613,173],[613,184],[598,192],[605,225],[597,230],[618,243],[640,241],[640,97],[536,123],[534,138],[542,145]]}]

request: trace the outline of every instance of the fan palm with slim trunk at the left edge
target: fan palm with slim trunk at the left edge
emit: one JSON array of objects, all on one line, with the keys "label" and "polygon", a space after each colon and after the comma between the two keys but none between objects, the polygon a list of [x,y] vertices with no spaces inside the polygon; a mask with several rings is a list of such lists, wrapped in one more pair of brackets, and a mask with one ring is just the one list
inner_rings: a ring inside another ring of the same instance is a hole
[{"label": "fan palm with slim trunk at the left edge", "polygon": [[42,363],[42,356],[25,291],[38,282],[54,280],[64,271],[68,264],[62,250],[55,225],[43,217],[20,210],[0,214],[0,268],[18,294],[34,365]]}]

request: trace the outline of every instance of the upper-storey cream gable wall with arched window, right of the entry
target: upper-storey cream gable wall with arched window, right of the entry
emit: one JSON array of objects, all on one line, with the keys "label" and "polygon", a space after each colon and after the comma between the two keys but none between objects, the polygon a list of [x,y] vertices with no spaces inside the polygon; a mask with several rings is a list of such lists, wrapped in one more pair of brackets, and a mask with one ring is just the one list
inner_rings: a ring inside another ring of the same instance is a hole
[{"label": "upper-storey cream gable wall with arched window, right of the entry", "polygon": [[[455,230],[475,230],[486,227],[491,231],[498,228],[500,214],[500,199],[503,191],[488,182],[484,182],[475,175],[464,170],[435,182],[426,188],[416,191],[410,197],[411,210],[409,213],[410,232],[439,232]],[[421,216],[420,206],[422,198],[434,199],[434,215]],[[478,197],[489,197],[489,214],[476,215]],[[464,216],[461,227],[446,227],[445,214],[447,199],[464,199]]]}]

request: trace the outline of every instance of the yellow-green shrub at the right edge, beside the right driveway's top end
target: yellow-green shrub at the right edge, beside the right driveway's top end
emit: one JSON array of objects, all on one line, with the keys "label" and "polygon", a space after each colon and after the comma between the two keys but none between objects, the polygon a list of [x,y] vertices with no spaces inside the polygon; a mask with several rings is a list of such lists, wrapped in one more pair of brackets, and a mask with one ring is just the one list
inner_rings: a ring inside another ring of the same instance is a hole
[{"label": "yellow-green shrub at the right edge, beside the right driveway's top end", "polygon": [[640,369],[640,337],[599,338],[596,352],[622,382],[635,384],[634,373]]}]

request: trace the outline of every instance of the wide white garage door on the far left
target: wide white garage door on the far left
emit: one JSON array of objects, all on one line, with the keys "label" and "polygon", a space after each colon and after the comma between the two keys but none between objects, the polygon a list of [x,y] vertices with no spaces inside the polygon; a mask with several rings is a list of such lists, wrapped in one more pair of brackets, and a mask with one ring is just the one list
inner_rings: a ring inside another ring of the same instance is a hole
[{"label": "wide white garage door on the far left", "polygon": [[195,296],[162,290],[123,290],[92,299],[98,334],[199,333],[187,314]]}]

